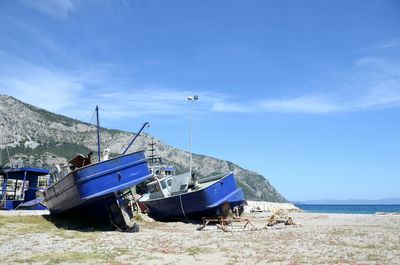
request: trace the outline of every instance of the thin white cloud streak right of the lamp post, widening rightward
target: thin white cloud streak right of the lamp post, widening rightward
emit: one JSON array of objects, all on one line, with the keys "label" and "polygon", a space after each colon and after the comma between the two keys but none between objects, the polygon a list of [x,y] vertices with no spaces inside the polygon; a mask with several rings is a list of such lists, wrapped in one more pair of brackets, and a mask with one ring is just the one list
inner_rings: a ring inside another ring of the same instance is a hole
[{"label": "thin white cloud streak right of the lamp post, widening rightward", "polygon": [[220,112],[333,113],[400,106],[400,65],[375,57],[355,61],[344,80],[332,80],[329,93],[251,101],[216,101]]}]

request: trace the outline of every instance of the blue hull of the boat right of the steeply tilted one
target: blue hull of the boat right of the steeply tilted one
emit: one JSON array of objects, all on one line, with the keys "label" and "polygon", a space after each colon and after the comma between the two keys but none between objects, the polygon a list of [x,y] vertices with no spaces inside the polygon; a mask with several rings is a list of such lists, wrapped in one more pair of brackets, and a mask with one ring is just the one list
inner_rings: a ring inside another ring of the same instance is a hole
[{"label": "blue hull of the boat right of the steeply tilted one", "polygon": [[221,205],[229,203],[231,209],[245,203],[242,189],[238,188],[233,173],[205,188],[167,198],[142,201],[150,215],[157,220],[201,219],[221,214]]}]

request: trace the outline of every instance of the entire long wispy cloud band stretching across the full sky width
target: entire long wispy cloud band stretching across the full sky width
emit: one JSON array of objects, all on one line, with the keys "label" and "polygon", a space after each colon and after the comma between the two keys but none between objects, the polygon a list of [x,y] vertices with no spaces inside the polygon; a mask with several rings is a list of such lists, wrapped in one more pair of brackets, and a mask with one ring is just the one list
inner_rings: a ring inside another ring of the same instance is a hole
[{"label": "entire long wispy cloud band stretching across the full sky width", "polygon": [[[74,70],[43,66],[0,51],[0,92],[78,119],[100,105],[109,119],[187,114],[186,97],[200,95],[197,111],[222,113],[314,113],[365,111],[400,106],[400,65],[364,57],[356,60],[329,93],[239,100],[205,89],[132,85],[115,76],[118,66],[75,65]],[[328,80],[329,81],[329,80]]]}]

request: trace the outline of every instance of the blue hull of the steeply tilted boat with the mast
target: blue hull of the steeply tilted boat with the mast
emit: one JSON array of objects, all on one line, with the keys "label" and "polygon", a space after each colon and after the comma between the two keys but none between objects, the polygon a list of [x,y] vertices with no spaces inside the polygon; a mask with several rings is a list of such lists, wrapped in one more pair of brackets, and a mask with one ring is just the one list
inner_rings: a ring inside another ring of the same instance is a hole
[{"label": "blue hull of the steeply tilted boat with the mast", "polygon": [[78,208],[84,213],[85,208],[97,208],[97,201],[150,176],[144,152],[119,156],[72,171],[44,192],[44,203],[52,215]]}]

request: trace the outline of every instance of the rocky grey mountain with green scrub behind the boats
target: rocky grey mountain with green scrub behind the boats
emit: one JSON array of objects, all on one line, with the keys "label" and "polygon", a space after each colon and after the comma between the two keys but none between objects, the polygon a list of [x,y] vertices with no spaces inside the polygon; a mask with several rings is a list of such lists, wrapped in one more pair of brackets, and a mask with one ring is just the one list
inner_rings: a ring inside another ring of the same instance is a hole
[{"label": "rocky grey mountain with green scrub behind the boats", "polygon": [[[134,136],[129,132],[106,128],[101,128],[100,133],[102,146],[110,148],[111,156],[120,154]],[[177,173],[189,170],[187,152],[148,134],[141,134],[130,151],[145,150],[151,141],[155,142],[156,153],[163,163],[174,165]],[[49,168],[55,164],[66,164],[77,153],[87,154],[96,149],[94,125],[0,95],[1,165]],[[233,171],[246,199],[287,202],[262,175],[229,161],[193,154],[193,169],[199,177]]]}]

